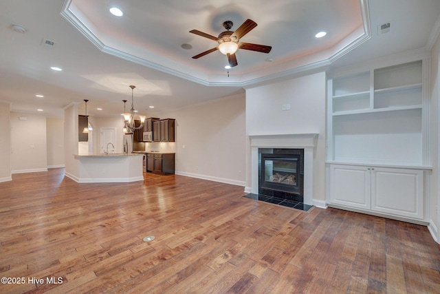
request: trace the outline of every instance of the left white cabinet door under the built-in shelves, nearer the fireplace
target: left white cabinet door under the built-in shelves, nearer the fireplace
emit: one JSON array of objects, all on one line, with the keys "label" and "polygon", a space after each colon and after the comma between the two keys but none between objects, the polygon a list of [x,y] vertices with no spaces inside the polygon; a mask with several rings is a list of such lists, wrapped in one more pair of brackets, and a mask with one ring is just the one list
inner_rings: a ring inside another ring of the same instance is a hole
[{"label": "left white cabinet door under the built-in shelves, nearer the fireplace", "polygon": [[330,165],[330,202],[371,209],[371,172],[368,167]]}]

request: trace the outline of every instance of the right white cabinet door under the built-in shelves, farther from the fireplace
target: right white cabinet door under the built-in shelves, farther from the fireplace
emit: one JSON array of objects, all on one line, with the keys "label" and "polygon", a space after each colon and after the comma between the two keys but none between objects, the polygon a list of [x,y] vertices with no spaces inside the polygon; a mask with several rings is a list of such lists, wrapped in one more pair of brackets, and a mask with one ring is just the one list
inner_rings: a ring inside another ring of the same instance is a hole
[{"label": "right white cabinet door under the built-in shelves, farther from the fireplace", "polygon": [[371,173],[371,209],[423,218],[423,171],[375,167]]}]

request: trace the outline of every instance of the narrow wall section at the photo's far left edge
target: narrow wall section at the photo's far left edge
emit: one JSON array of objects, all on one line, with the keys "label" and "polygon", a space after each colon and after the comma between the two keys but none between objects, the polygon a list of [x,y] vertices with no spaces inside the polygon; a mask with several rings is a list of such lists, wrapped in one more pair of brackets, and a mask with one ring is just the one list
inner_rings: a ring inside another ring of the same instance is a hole
[{"label": "narrow wall section at the photo's far left edge", "polygon": [[12,180],[10,104],[0,102],[0,182]]}]

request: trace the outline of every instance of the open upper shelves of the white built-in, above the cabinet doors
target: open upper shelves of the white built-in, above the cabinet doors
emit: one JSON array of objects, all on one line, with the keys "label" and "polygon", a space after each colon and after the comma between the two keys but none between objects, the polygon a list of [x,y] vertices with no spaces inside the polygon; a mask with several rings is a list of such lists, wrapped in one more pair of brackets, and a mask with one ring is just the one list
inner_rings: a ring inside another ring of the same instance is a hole
[{"label": "open upper shelves of the white built-in, above the cabinet doors", "polygon": [[420,60],[331,78],[327,160],[428,165],[422,67]]}]

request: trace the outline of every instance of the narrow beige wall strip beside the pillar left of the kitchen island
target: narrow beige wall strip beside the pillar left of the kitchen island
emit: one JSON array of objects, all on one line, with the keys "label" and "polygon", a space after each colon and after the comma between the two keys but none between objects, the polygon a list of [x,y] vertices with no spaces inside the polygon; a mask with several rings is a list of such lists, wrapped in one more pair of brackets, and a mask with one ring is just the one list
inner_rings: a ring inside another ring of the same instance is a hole
[{"label": "narrow beige wall strip beside the pillar left of the kitchen island", "polygon": [[64,167],[64,118],[46,119],[47,167]]}]

